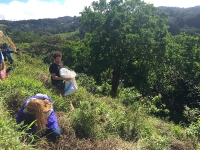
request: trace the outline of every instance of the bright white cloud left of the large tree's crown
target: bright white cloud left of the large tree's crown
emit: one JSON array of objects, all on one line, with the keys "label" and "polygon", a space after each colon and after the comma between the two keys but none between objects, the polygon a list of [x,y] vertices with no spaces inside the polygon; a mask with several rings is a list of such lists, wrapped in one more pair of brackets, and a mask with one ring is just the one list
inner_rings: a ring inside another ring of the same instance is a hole
[{"label": "bright white cloud left of the large tree's crown", "polygon": [[27,20],[79,16],[84,6],[89,6],[91,2],[92,0],[66,0],[62,4],[56,0],[52,2],[29,0],[26,3],[12,1],[9,4],[0,3],[0,17],[4,16],[6,20]]}]

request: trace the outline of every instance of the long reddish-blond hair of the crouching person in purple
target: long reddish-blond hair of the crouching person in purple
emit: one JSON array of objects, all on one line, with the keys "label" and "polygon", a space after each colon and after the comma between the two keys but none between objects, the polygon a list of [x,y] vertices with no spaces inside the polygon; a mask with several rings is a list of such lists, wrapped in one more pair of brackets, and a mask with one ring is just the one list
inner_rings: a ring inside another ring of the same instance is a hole
[{"label": "long reddish-blond hair of the crouching person in purple", "polygon": [[47,117],[46,114],[51,110],[52,104],[48,100],[32,99],[25,108],[28,113],[35,115],[37,131],[46,129]]}]

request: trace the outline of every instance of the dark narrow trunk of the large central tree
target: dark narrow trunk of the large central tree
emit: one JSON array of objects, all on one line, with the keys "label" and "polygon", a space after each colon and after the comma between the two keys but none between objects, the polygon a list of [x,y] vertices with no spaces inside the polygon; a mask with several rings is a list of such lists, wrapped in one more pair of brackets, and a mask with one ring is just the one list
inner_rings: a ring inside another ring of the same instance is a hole
[{"label": "dark narrow trunk of the large central tree", "polygon": [[112,74],[111,96],[115,98],[117,96],[117,89],[119,86],[120,67],[114,67]]}]

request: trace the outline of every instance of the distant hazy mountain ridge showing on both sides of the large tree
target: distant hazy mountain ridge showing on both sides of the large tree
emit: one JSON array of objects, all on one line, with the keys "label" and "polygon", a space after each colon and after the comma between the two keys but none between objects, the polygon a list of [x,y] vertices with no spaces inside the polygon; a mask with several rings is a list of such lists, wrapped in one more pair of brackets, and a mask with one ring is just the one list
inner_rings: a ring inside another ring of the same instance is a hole
[{"label": "distant hazy mountain ridge showing on both sides of the large tree", "polygon": [[[200,35],[200,6],[190,8],[157,7],[169,14],[168,31],[173,35],[185,32],[190,35]],[[7,21],[0,20],[0,30],[6,33],[33,32],[39,35],[60,34],[72,32],[80,28],[80,17],[64,16],[55,19],[37,19]],[[199,36],[200,37],[200,36]]]}]

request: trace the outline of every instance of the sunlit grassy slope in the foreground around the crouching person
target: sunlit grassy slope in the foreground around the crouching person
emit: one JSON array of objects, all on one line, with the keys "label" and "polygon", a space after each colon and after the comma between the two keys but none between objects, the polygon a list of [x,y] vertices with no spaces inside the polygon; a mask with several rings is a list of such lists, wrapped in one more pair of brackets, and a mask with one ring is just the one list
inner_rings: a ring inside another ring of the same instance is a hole
[{"label": "sunlit grassy slope in the foreground around the crouching person", "polygon": [[[25,54],[15,59],[11,75],[0,82],[0,138],[4,137],[0,140],[2,149],[32,147],[23,141],[20,145],[19,139],[23,133],[16,131],[13,118],[22,102],[36,93],[45,93],[52,98],[63,130],[58,143],[52,144],[43,139],[36,143],[36,149],[48,149],[48,146],[54,149],[79,149],[80,145],[82,149],[193,149],[180,126],[148,116],[139,109],[140,106],[136,106],[137,109],[126,108],[120,104],[120,100],[96,98],[80,86],[71,96],[57,95],[49,84],[47,65]],[[69,101],[75,106],[73,112],[70,111]],[[78,130],[79,133],[76,132]],[[89,139],[85,139],[85,136]]]}]

